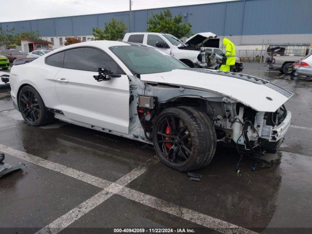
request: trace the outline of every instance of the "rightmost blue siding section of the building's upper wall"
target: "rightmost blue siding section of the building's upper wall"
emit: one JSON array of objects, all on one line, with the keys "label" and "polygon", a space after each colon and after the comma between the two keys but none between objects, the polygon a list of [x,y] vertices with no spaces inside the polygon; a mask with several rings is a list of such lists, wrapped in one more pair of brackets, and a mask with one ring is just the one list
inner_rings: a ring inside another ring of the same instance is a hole
[{"label": "rightmost blue siding section of the building's upper wall", "polygon": [[311,0],[247,0],[243,35],[312,33]]}]

